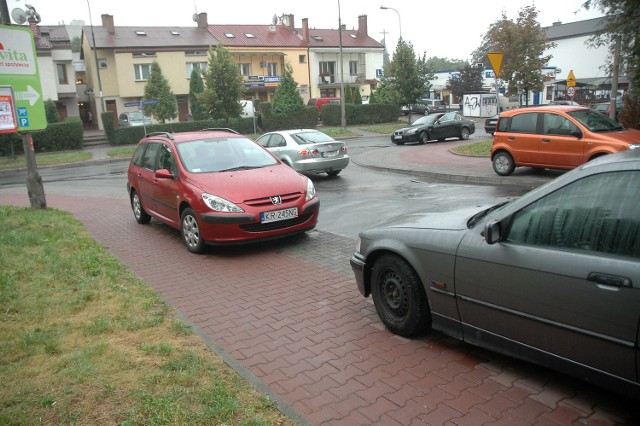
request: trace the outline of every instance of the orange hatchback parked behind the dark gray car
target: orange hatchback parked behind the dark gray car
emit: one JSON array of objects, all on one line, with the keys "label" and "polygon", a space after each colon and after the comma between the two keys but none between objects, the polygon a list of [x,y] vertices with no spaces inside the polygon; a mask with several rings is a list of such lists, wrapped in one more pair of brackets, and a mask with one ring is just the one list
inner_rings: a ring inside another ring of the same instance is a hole
[{"label": "orange hatchback parked behind the dark gray car", "polygon": [[640,131],[625,129],[589,108],[537,106],[502,112],[491,147],[493,170],[573,169],[596,157],[640,148]]}]

